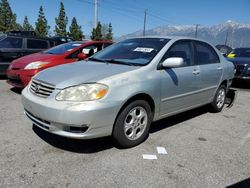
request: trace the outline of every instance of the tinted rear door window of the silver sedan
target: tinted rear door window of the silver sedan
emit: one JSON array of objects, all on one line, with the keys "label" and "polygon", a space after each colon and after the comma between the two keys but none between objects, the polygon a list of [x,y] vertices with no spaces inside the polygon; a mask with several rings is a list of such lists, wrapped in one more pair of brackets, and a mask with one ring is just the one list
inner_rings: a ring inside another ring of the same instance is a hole
[{"label": "tinted rear door window of the silver sedan", "polygon": [[199,65],[219,63],[219,57],[214,49],[206,43],[196,42],[197,62]]}]

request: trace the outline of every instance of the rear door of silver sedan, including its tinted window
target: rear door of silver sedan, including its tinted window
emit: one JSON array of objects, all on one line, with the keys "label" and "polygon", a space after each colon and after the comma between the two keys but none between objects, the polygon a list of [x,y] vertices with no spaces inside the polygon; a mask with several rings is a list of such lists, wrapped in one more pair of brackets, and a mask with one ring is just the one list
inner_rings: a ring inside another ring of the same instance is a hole
[{"label": "rear door of silver sedan, including its tinted window", "polygon": [[210,102],[221,81],[223,66],[215,50],[207,43],[195,41],[197,65],[200,69],[201,92],[203,103]]}]

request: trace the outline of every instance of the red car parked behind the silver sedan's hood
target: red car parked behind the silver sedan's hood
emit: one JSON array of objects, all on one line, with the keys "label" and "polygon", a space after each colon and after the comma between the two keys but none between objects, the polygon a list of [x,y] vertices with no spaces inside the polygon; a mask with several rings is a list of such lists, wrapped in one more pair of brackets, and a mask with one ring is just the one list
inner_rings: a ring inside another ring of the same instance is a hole
[{"label": "red car parked behind the silver sedan's hood", "polygon": [[23,88],[41,70],[88,58],[111,44],[111,41],[72,41],[21,57],[10,64],[7,82],[14,87]]}]

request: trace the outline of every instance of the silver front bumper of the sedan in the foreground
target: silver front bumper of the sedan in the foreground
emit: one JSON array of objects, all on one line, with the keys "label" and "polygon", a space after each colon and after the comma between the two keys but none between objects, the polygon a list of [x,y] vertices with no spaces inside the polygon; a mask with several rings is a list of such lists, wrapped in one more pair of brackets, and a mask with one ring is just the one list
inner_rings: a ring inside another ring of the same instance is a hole
[{"label": "silver front bumper of the sedan in the foreground", "polygon": [[54,92],[48,98],[32,94],[28,87],[22,92],[25,114],[34,125],[64,137],[89,139],[112,134],[120,109],[118,102],[56,101]]}]

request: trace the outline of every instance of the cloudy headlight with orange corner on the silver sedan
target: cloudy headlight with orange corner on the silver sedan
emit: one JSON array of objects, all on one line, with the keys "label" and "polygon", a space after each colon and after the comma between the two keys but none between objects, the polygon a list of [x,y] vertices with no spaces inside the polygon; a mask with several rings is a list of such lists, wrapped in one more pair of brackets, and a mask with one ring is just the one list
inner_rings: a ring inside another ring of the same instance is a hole
[{"label": "cloudy headlight with orange corner on the silver sedan", "polygon": [[92,101],[103,98],[108,86],[103,84],[82,84],[63,89],[56,96],[58,101]]}]

